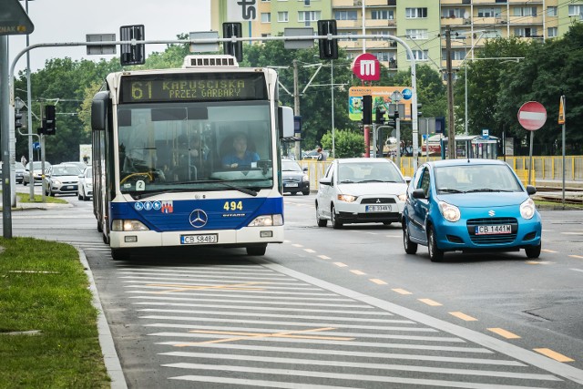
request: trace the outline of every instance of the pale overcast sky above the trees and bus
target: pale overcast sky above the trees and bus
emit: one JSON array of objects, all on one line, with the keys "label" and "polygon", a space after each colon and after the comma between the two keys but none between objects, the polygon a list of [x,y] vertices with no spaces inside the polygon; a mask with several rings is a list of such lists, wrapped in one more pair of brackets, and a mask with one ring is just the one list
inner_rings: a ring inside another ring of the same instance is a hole
[{"label": "pale overcast sky above the trees and bus", "polygon": [[[144,25],[146,40],[177,39],[179,34],[210,30],[212,0],[29,0],[28,15],[35,26],[30,45],[40,43],[85,42],[87,34],[115,34],[119,27]],[[25,0],[20,1],[25,8]],[[2,11],[0,11],[2,12]],[[26,48],[26,36],[8,36],[10,64]],[[146,52],[164,51],[165,45],[148,45]],[[98,60],[87,56],[86,46],[39,47],[30,51],[30,68],[45,67],[47,59]],[[117,54],[119,56],[119,46]],[[113,56],[102,56],[110,59]],[[26,69],[26,55],[15,74]]]}]

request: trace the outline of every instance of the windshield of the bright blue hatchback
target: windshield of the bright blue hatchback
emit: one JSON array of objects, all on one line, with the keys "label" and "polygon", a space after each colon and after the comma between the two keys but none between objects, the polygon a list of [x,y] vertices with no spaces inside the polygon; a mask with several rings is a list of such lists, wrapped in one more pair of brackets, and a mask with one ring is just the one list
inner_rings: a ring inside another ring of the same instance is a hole
[{"label": "windshield of the bright blue hatchback", "polygon": [[507,165],[460,165],[435,168],[435,187],[440,194],[522,191]]}]

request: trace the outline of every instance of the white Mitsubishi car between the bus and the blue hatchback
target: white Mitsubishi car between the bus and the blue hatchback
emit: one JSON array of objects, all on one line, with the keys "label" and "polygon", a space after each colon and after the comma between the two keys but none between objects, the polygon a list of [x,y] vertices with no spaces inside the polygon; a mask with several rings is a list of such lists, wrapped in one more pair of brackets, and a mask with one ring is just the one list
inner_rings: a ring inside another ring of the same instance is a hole
[{"label": "white Mitsubishi car between the bus and the blue hatchback", "polygon": [[334,159],[320,179],[316,195],[316,221],[345,223],[400,222],[407,182],[388,159]]}]

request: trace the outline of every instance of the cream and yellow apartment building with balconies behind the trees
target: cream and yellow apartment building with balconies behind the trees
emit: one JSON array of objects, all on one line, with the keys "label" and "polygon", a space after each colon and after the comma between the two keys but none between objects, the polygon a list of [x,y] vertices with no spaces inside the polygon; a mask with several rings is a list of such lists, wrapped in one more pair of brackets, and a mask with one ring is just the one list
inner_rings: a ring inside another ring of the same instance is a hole
[{"label": "cream and yellow apartment building with balconies behind the trees", "polygon": [[[251,3],[239,2],[239,3]],[[254,17],[240,18],[254,7]],[[240,7],[233,16],[233,8]],[[243,9],[247,7],[246,9]],[[363,17],[364,15],[364,17]],[[238,20],[233,19],[239,18]],[[277,36],[286,27],[311,26],[335,19],[340,42],[350,58],[371,53],[386,67],[405,70],[410,58],[404,47],[383,38],[349,39],[356,35],[398,36],[411,47],[417,63],[445,67],[446,31],[451,31],[453,67],[484,46],[486,39],[517,36],[546,40],[562,36],[583,21],[583,0],[212,0],[211,27],[243,21],[243,36]]]}]

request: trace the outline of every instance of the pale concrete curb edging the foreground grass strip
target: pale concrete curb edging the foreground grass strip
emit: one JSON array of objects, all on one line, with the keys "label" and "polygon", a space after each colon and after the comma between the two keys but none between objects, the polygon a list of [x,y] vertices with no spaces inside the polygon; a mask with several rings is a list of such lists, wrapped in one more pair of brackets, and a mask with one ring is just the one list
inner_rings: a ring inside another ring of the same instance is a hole
[{"label": "pale concrete curb edging the foreground grass strip", "polygon": [[91,291],[91,294],[93,294],[93,306],[97,310],[97,332],[99,333],[99,344],[101,345],[101,352],[103,353],[103,360],[106,364],[107,374],[109,375],[109,378],[111,378],[111,388],[128,389],[126,377],[121,369],[116,346],[113,342],[113,336],[111,335],[111,331],[109,331],[106,315],[103,312],[103,307],[99,300],[99,293],[97,292],[97,287],[93,279],[93,273],[91,272],[91,268],[89,268],[85,252],[79,248],[77,248],[77,251],[79,252],[79,260],[87,274],[89,290]]}]

